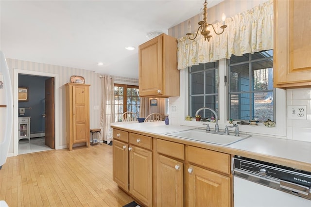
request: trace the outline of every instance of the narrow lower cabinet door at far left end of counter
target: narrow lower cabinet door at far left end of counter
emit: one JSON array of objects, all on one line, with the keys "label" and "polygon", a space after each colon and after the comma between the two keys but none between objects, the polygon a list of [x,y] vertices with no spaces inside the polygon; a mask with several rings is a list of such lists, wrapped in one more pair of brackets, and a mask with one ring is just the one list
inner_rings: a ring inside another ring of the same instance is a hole
[{"label": "narrow lower cabinet door at far left end of counter", "polygon": [[114,139],[112,153],[112,179],[128,191],[128,144]]}]

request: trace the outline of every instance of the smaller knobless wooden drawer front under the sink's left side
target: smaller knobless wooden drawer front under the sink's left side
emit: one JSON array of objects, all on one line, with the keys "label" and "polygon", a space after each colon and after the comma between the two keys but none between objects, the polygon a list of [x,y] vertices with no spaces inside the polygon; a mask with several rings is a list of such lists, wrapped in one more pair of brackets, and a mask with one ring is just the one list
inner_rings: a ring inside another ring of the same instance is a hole
[{"label": "smaller knobless wooden drawer front under the sink's left side", "polygon": [[185,160],[185,145],[166,140],[156,140],[156,152]]}]

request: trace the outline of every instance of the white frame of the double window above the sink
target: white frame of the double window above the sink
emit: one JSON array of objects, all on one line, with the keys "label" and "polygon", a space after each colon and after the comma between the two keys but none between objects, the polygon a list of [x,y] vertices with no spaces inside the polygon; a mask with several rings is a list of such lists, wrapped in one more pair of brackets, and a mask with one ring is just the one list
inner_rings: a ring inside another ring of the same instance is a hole
[{"label": "white frame of the double window above the sink", "polygon": [[[225,126],[229,126],[227,120],[228,110],[227,110],[227,87],[225,82],[225,77],[227,76],[227,59],[219,60],[219,111],[218,111],[218,124],[221,130]],[[186,116],[189,115],[189,72],[187,68],[180,70],[180,82],[181,84],[180,96],[179,97],[169,97],[169,102],[171,104],[170,108],[177,107],[176,112],[170,113],[170,120],[174,125],[189,126],[204,128],[202,124],[204,122],[196,122],[195,119],[192,121],[187,121]],[[241,133],[251,134],[253,136],[269,136],[275,138],[286,138],[286,130],[288,127],[286,125],[286,90],[276,88],[276,127],[265,127],[260,123],[257,127],[250,127],[248,125],[239,125]],[[176,111],[176,110],[175,110]],[[234,123],[237,123],[234,121]],[[214,127],[215,123],[209,123],[211,128]]]}]

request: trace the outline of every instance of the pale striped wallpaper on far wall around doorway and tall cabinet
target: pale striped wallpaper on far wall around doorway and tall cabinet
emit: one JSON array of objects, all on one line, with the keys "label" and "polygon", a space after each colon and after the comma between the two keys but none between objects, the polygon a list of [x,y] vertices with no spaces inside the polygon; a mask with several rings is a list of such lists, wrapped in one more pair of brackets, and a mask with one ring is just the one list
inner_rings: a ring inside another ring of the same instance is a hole
[{"label": "pale striped wallpaper on far wall around doorway and tall cabinet", "polygon": [[[58,85],[56,89],[58,89],[58,100],[59,100],[59,113],[60,113],[60,120],[55,120],[55,125],[59,127],[59,136],[55,137],[55,139],[59,139],[59,146],[55,146],[57,148],[66,148],[66,94],[65,94],[65,86],[64,84],[70,81],[71,76],[82,76],[86,80],[86,84],[90,84],[90,128],[99,128],[100,123],[100,110],[95,110],[94,106],[101,105],[100,95],[101,95],[101,88],[100,88],[100,81],[101,81],[101,74],[94,73],[93,71],[88,71],[79,68],[72,68],[72,67],[65,67],[65,66],[58,66],[52,64],[42,64],[42,63],[34,63],[28,61],[21,61],[15,59],[6,59],[12,83],[14,82],[14,69],[25,70],[27,72],[32,71],[35,75],[36,72],[39,73],[48,73],[48,74],[57,74],[58,75]],[[124,77],[114,77],[115,82],[122,83],[122,84],[132,84],[138,85],[138,79],[130,79]],[[14,90],[14,89],[13,89]],[[12,138],[13,139],[13,138]],[[13,153],[13,141],[11,142],[11,146],[9,149],[9,153]]]}]

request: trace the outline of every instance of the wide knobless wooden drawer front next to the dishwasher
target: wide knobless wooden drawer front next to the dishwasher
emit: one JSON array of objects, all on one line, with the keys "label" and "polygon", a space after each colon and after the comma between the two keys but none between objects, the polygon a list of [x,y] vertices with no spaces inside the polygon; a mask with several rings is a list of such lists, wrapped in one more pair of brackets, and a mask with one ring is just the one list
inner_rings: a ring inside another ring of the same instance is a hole
[{"label": "wide knobless wooden drawer front next to the dishwasher", "polygon": [[228,154],[187,146],[186,156],[191,163],[230,174],[230,155]]}]

